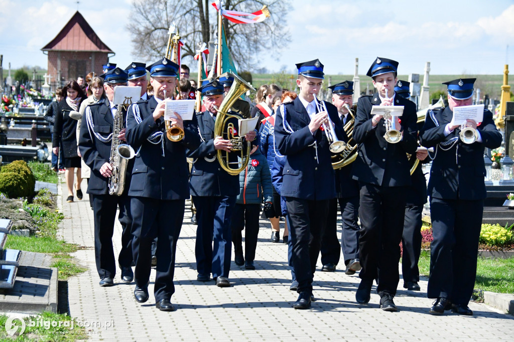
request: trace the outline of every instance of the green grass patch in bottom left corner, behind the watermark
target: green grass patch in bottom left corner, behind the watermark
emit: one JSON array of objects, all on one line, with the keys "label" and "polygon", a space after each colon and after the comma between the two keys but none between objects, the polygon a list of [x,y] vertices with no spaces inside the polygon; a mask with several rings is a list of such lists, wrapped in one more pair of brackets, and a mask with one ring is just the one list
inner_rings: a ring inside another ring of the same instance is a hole
[{"label": "green grass patch in bottom left corner, behind the watermark", "polygon": [[[73,320],[70,316],[66,314],[57,314],[53,312],[44,311],[40,315],[37,316],[29,316],[24,318],[25,320],[25,332],[22,335],[19,335],[20,328],[18,328],[17,333],[14,336],[9,336],[5,330],[5,324],[8,315],[0,315],[0,340],[2,341],[17,341],[17,342],[25,342],[25,341],[59,341],[59,342],[67,342],[67,341],[75,341],[77,339],[85,339],[86,330],[77,324],[75,320]],[[30,324],[32,321],[32,324]],[[43,321],[43,326],[41,326],[41,321]],[[39,322],[39,324],[38,324]],[[47,323],[48,322],[48,323]],[[57,322],[56,327],[52,327],[52,322]],[[61,322],[61,326],[59,327],[59,322]],[[67,323],[66,323],[67,322]],[[14,320],[13,324],[20,327],[20,321]],[[45,324],[48,329],[45,329]],[[34,325],[31,327],[31,325]],[[38,326],[39,325],[39,326]],[[65,325],[68,325],[65,327]]]}]

